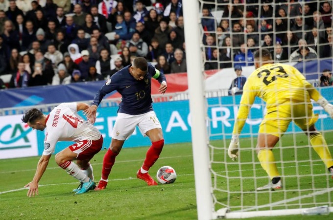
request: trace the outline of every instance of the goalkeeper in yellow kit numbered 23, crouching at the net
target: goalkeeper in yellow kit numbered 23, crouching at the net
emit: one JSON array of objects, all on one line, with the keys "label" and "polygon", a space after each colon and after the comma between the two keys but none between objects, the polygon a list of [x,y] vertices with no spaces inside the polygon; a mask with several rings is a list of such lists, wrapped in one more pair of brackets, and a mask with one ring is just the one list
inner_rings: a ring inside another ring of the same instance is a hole
[{"label": "goalkeeper in yellow kit numbered 23, crouching at the net", "polygon": [[255,97],[258,96],[266,102],[267,113],[259,127],[256,151],[260,164],[271,182],[257,190],[282,188],[272,149],[287,130],[291,120],[309,135],[314,151],[323,160],[333,177],[332,156],[324,137],[314,127],[318,115],[313,114],[310,99],[323,107],[331,118],[333,118],[333,105],[329,104],[295,67],[274,64],[267,49],[257,50],[254,61],[256,70],[249,76],[243,88],[228,155],[233,160],[238,157],[238,135]]}]

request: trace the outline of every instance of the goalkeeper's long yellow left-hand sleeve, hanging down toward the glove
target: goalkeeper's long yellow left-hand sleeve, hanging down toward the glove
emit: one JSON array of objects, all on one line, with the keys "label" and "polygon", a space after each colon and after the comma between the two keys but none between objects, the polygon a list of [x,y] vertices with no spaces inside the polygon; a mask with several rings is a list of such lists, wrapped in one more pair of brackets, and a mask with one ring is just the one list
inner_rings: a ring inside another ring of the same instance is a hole
[{"label": "goalkeeper's long yellow left-hand sleeve, hanging down toward the glove", "polygon": [[257,96],[257,91],[253,85],[255,85],[253,82],[253,77],[249,77],[249,79],[245,82],[245,85],[243,87],[243,95],[240,99],[240,105],[239,110],[237,113],[237,118],[235,120],[234,125],[234,134],[239,134],[241,130],[243,129],[246,119],[249,115],[250,109],[252,104],[254,103],[254,100]]}]

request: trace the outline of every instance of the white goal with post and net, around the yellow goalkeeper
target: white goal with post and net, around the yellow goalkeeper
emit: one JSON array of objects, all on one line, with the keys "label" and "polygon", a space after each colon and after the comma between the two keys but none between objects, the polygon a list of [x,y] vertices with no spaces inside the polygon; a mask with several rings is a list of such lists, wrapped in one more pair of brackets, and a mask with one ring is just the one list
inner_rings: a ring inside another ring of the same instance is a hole
[{"label": "white goal with post and net, around the yellow goalkeeper", "polygon": [[[187,64],[194,171],[200,176],[195,178],[198,218],[333,212],[331,175],[309,137],[294,123],[281,133],[272,150],[282,189],[256,190],[271,182],[255,150],[266,113],[261,99],[256,98],[240,134],[238,160],[232,161],[227,154],[243,86],[242,80],[234,80],[236,72],[240,69],[247,77],[255,70],[253,52],[258,48],[268,49],[275,63],[295,66],[333,103],[333,87],[326,87],[332,85],[332,2],[183,0],[183,5],[187,54],[191,54],[187,55]],[[194,11],[198,14],[192,15]],[[199,52],[193,47],[200,47]],[[208,77],[204,70],[210,69],[219,71]],[[203,113],[198,110],[201,105]],[[315,127],[333,154],[333,120],[316,103],[313,111],[319,115]],[[208,126],[193,124],[200,120],[206,120]],[[200,138],[204,141],[198,143]],[[205,154],[209,154],[207,158]],[[210,174],[207,181],[208,169],[199,168],[206,163]]]}]

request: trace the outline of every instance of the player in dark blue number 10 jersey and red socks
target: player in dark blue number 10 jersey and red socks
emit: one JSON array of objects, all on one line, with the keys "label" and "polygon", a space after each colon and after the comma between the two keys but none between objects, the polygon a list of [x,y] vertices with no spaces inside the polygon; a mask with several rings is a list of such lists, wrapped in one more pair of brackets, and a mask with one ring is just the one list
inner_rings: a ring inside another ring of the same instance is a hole
[{"label": "player in dark blue number 10 jersey and red socks", "polygon": [[159,158],[164,146],[164,139],[161,124],[152,107],[152,78],[161,83],[159,92],[164,94],[167,88],[165,75],[147,63],[145,58],[137,57],[133,60],[132,65],[120,69],[105,82],[95,94],[92,105],[85,110],[87,119],[94,123],[97,106],[106,94],[117,90],[122,96],[111,135],[111,145],[103,159],[102,177],[95,190],[105,189],[116,156],[136,126],[152,142],[143,165],[137,173],[137,178],[143,179],[149,186],[157,185],[155,180],[149,176],[148,170]]}]

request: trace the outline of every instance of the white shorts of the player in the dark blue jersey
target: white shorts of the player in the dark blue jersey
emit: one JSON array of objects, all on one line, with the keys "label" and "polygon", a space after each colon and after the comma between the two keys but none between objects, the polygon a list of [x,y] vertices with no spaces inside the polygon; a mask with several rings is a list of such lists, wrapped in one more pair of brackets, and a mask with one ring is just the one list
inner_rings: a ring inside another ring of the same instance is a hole
[{"label": "white shorts of the player in the dark blue jersey", "polygon": [[136,126],[139,127],[143,136],[146,136],[145,133],[149,130],[162,129],[154,111],[138,115],[118,113],[111,137],[112,139],[126,140],[134,132]]}]

